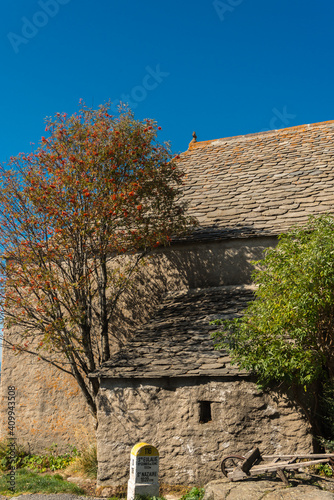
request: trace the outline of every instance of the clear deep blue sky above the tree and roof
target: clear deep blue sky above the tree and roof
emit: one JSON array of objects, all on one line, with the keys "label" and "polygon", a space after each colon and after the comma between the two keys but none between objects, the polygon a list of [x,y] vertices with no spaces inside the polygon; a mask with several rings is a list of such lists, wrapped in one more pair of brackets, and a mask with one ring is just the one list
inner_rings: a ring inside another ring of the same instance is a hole
[{"label": "clear deep blue sky above the tree and roof", "polygon": [[2,0],[0,161],[82,98],[130,100],[161,140],[334,119],[331,0]]}]

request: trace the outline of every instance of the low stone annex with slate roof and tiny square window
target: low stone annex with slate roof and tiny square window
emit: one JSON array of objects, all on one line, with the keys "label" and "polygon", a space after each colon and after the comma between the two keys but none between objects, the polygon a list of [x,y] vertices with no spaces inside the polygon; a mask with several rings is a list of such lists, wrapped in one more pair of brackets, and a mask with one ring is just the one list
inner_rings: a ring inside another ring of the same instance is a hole
[{"label": "low stone annex with slate roof and tiny square window", "polygon": [[308,426],[289,401],[260,392],[214,351],[209,320],[240,314],[251,285],[167,294],[159,311],[98,372],[99,486],[126,485],[132,443],[154,443],[160,481],[203,485],[224,455],[311,451]]}]

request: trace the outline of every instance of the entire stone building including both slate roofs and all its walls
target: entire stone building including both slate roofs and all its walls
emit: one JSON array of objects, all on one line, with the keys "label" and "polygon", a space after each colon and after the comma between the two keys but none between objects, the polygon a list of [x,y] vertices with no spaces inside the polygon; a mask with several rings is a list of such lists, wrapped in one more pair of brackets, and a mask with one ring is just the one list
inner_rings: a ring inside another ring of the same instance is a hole
[{"label": "entire stone building including both slate roofs and all its walls", "polygon": [[[209,321],[241,314],[252,298],[252,261],[278,234],[332,211],[334,122],[192,142],[179,161],[184,196],[200,225],[157,249],[131,302],[142,313],[128,322],[131,339],[92,375],[101,381],[101,488],[126,484],[138,441],[159,449],[161,480],[171,484],[219,477],[221,456],[254,444],[266,452],[311,447],[303,415],[278,395],[260,393],[226,352],[213,349]],[[29,357],[17,360],[4,351],[2,397],[8,385],[17,386],[18,439],[41,450],[94,435],[66,374]]]}]

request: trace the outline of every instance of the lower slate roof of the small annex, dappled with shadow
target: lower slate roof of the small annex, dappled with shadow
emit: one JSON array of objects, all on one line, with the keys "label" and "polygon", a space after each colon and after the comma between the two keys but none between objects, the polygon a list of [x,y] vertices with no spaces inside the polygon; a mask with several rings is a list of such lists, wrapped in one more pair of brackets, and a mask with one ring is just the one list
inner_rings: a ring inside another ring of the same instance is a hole
[{"label": "lower slate roof of the small annex, dappled with shadow", "polygon": [[215,318],[241,315],[253,298],[251,285],[169,293],[154,318],[92,376],[161,378],[244,376],[227,352],[214,350],[210,337]]}]

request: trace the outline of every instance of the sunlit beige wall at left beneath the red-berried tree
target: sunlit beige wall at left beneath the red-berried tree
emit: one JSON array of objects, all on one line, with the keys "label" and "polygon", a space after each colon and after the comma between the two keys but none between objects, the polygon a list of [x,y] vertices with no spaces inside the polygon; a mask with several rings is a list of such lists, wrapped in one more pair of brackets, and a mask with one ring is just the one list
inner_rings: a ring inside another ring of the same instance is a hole
[{"label": "sunlit beige wall at left beneath the red-berried tree", "polygon": [[1,438],[8,436],[7,390],[15,386],[15,437],[32,453],[57,444],[82,448],[95,441],[95,421],[73,377],[3,348],[1,372]]}]

